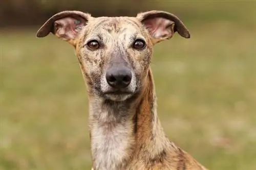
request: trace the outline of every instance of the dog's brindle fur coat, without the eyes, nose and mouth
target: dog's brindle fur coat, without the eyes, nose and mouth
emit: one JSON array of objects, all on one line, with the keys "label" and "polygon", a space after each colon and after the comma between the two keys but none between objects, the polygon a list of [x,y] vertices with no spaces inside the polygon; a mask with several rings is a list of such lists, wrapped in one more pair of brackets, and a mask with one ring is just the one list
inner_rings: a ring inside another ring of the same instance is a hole
[{"label": "dog's brindle fur coat, without the eyes, nose and mouth", "polygon": [[[152,25],[153,23],[153,25]],[[155,31],[154,29],[158,29]],[[160,29],[159,29],[160,28]],[[93,169],[205,169],[166,137],[157,116],[156,93],[150,67],[154,44],[175,32],[190,34],[181,20],[164,11],[136,17],[92,17],[80,11],[52,16],[37,32],[49,33],[75,47],[89,95],[89,128]],[[144,50],[131,48],[134,38],[145,40]],[[90,39],[101,42],[89,50]],[[105,94],[106,69],[113,64],[132,69],[132,94]]]}]

